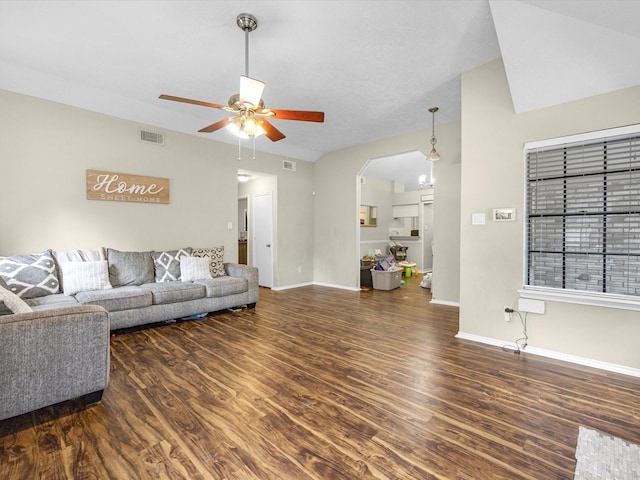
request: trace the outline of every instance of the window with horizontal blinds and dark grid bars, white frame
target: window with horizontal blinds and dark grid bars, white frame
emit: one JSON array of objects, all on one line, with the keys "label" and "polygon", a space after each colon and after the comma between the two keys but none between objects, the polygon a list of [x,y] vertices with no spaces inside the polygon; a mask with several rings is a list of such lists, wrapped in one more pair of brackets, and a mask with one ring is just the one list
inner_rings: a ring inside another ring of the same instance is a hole
[{"label": "window with horizontal blinds and dark grid bars, white frame", "polygon": [[640,126],[527,144],[525,157],[524,291],[640,309]]}]

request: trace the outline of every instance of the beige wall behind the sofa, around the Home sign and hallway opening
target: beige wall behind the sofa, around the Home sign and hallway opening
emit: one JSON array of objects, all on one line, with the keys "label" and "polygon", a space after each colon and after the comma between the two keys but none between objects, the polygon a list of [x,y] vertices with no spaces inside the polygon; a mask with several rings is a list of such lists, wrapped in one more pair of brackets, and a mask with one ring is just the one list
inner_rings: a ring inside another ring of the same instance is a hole
[{"label": "beige wall behind the sofa, around the Home sign and hallway opening", "polygon": [[[252,160],[248,143],[239,161],[237,146],[173,131],[164,132],[165,146],[147,144],[138,141],[143,125],[6,91],[0,112],[0,255],[224,245],[225,261],[236,261],[237,171],[260,169],[278,175],[278,245],[287,254],[274,277],[298,282],[290,272],[302,258],[312,278],[309,162],[286,172],[282,157],[258,152]],[[89,201],[87,169],[167,177],[170,203]]]}]

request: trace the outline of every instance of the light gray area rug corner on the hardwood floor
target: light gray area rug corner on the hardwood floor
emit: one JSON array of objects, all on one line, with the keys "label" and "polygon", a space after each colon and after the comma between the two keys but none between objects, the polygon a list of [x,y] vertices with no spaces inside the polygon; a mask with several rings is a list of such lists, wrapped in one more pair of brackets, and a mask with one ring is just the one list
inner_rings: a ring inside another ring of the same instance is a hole
[{"label": "light gray area rug corner on the hardwood floor", "polygon": [[580,427],[575,480],[640,479],[640,445]]}]

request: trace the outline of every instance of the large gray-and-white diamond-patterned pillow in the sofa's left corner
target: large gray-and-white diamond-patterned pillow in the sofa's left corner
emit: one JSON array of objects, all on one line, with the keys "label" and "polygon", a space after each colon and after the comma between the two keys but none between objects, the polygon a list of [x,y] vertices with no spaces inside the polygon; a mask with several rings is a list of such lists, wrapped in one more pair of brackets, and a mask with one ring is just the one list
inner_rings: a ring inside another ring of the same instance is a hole
[{"label": "large gray-and-white diamond-patterned pillow in the sofa's left corner", "polygon": [[31,255],[0,257],[0,277],[21,298],[58,293],[60,283],[51,250]]}]

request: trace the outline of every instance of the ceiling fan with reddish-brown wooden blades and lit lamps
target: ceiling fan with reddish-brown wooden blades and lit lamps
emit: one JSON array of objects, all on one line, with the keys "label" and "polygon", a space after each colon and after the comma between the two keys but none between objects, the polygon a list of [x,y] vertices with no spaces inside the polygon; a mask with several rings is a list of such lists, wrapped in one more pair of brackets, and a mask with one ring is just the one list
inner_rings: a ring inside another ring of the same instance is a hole
[{"label": "ceiling fan with reddish-brown wooden blades and lit lamps", "polygon": [[211,133],[228,127],[240,138],[257,137],[265,135],[272,142],[285,138],[285,135],[274,127],[267,119],[274,120],[299,120],[303,122],[324,122],[324,112],[311,112],[305,110],[281,110],[266,108],[262,100],[264,82],[249,77],[249,32],[258,27],[258,21],[253,15],[241,13],[236,19],[238,27],[245,32],[245,74],[240,76],[240,93],[229,98],[228,105],[203,102],[189,98],[175,97],[173,95],[160,95],[163,100],[190,103],[203,107],[218,108],[231,112],[233,116],[219,120],[211,125],[198,130],[198,132]]}]

